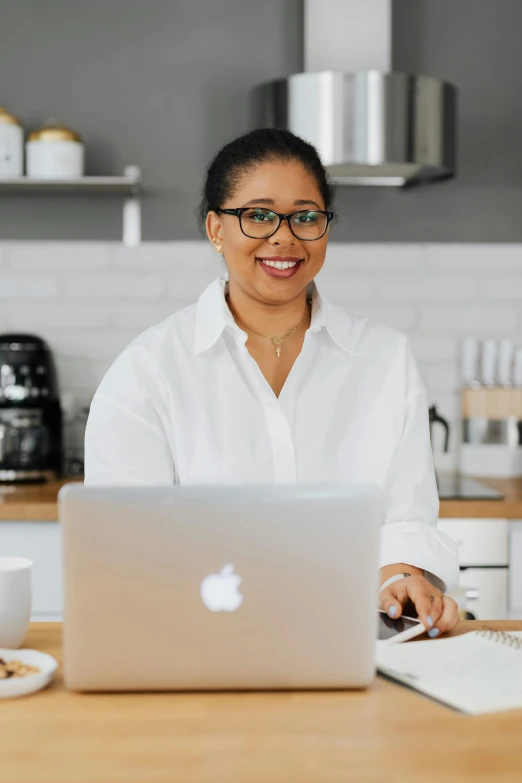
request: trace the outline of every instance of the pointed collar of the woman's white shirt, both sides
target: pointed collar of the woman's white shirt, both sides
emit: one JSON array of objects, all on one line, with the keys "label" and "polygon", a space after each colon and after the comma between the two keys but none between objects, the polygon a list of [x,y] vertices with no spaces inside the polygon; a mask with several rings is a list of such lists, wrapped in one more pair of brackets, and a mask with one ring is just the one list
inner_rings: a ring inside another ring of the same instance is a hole
[{"label": "pointed collar of the woman's white shirt, both sides", "polygon": [[[199,297],[196,309],[195,354],[202,353],[215,345],[227,325],[239,331],[225,300],[227,291],[228,272],[225,272],[210,283]],[[319,332],[322,328],[326,329],[340,348],[347,353],[357,355],[358,352],[352,347],[351,316],[320,293],[316,280],[312,280],[309,284],[307,295],[312,299],[310,331]]]}]

